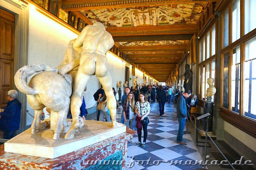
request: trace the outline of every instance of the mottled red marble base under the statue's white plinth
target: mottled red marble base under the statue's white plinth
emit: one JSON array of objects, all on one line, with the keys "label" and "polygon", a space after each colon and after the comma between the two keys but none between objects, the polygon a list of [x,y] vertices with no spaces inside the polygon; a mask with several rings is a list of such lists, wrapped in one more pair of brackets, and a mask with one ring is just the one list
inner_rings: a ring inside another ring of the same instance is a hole
[{"label": "mottled red marble base under the statue's white plinth", "polygon": [[[128,139],[131,139],[134,133],[133,130],[126,128],[125,133],[55,159],[4,152],[3,144],[0,146],[0,169],[86,169],[91,166],[88,162],[104,160],[118,152],[122,152],[122,168],[125,168]],[[44,151],[42,150],[42,152]]]}]

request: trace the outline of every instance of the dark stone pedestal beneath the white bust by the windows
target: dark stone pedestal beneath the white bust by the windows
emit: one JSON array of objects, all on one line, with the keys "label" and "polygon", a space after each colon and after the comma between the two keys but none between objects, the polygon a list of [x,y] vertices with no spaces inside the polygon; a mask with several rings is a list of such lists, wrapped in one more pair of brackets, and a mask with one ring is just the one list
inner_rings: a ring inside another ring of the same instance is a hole
[{"label": "dark stone pedestal beneath the white bust by the windows", "polygon": [[[211,116],[208,117],[208,132],[212,132],[212,124],[213,124],[213,102],[211,97],[207,97],[204,103],[204,114],[210,113]],[[204,130],[206,130],[206,118],[203,121]]]}]

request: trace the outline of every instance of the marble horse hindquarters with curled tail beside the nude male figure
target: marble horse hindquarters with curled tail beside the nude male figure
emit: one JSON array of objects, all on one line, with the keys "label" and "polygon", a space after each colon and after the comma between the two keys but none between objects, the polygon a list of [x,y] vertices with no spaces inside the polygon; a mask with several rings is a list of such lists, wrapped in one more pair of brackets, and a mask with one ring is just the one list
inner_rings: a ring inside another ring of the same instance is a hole
[{"label": "marble horse hindquarters with curled tail beside the nude male figure", "polygon": [[[40,73],[33,76],[27,84],[25,79],[36,72]],[[60,133],[66,133],[69,130],[71,122],[67,121],[67,113],[72,94],[71,75],[59,75],[55,67],[31,64],[23,66],[16,72],[14,82],[17,89],[27,95],[28,103],[34,110],[31,134],[50,126],[50,119],[40,122],[44,107],[51,109],[51,115],[53,112],[58,115],[58,118],[54,120],[56,126],[53,139],[58,139]],[[83,121],[80,121],[80,127],[83,127]]]}]

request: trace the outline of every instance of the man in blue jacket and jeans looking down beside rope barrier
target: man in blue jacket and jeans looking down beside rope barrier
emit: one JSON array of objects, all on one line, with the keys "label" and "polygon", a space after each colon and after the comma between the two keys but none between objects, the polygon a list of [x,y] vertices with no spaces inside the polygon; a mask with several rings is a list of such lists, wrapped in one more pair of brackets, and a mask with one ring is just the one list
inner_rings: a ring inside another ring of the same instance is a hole
[{"label": "man in blue jacket and jeans looking down beside rope barrier", "polygon": [[177,117],[179,121],[179,130],[177,135],[177,144],[181,145],[187,145],[185,142],[183,142],[182,136],[183,136],[183,130],[186,124],[186,118],[187,118],[187,106],[186,106],[186,100],[185,98],[188,98],[191,95],[191,91],[187,90],[177,100]]}]

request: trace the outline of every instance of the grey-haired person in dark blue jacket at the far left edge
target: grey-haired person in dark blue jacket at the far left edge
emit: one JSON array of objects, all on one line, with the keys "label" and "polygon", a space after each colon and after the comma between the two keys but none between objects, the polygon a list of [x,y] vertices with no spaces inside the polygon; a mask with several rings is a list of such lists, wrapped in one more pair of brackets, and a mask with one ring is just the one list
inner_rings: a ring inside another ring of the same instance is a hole
[{"label": "grey-haired person in dark blue jacket at the far left edge", "polygon": [[14,137],[15,130],[20,126],[21,103],[18,99],[16,90],[9,90],[7,94],[7,106],[5,110],[0,110],[0,130],[3,130],[3,138],[11,139]]}]

